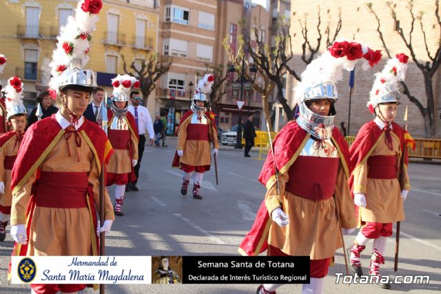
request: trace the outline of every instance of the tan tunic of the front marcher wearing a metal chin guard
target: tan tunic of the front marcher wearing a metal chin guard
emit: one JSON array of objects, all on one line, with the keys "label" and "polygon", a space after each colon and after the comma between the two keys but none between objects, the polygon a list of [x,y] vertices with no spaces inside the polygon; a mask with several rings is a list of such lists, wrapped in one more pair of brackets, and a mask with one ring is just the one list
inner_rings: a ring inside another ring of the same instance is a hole
[{"label": "tan tunic of the front marcher wearing a metal chin guard", "polygon": [[[309,156],[323,157],[323,153],[320,151],[318,154],[309,154]],[[334,153],[334,156],[338,155]],[[289,217],[289,224],[280,227],[276,222],[272,222],[269,228],[268,244],[281,249],[287,255],[309,255],[311,260],[334,256],[336,249],[342,247],[334,198],[315,202],[296,196],[294,193],[285,191],[288,181],[287,171],[279,177],[279,183],[280,193],[283,195],[283,211]],[[280,207],[277,194],[277,186],[274,182],[265,195],[265,204],[270,216],[276,207]],[[341,227],[345,229],[356,227],[353,200],[341,162],[338,167],[335,197],[340,208]]]}]

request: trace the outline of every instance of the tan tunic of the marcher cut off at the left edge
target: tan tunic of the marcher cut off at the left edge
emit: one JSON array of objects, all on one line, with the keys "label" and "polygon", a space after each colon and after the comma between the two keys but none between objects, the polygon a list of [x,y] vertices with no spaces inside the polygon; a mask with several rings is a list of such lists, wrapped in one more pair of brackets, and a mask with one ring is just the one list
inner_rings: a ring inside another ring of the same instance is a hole
[{"label": "tan tunic of the marcher cut off at the left edge", "polygon": [[14,135],[3,147],[0,148],[0,182],[5,185],[5,193],[0,194],[0,205],[10,207],[12,203],[11,170],[5,169],[6,156],[16,156],[19,153],[20,143],[17,143],[17,135]]}]

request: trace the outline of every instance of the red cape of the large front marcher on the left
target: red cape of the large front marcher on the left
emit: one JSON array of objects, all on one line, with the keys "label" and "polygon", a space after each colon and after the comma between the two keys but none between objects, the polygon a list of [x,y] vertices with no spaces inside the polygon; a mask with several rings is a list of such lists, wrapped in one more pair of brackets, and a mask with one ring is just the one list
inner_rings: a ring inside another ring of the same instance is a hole
[{"label": "red cape of the large front marcher on the left", "polygon": [[[112,145],[110,145],[109,140],[105,136],[105,132],[96,125],[96,123],[91,123],[88,120],[84,120],[83,125],[78,130],[83,134],[85,140],[82,140],[82,144],[88,144],[90,149],[92,149],[93,154],[95,154],[96,163],[98,165],[98,170],[101,173],[101,166],[103,162],[108,162],[110,156],[113,153]],[[55,115],[37,123],[32,124],[29,129],[25,132],[21,147],[19,149],[19,154],[17,154],[17,160],[14,162],[14,167],[12,168],[12,182],[11,189],[12,193],[15,193],[23,187],[25,182],[28,181],[30,176],[37,171],[37,178],[39,178],[39,165],[48,156],[58,140],[63,137],[64,130],[57,122]],[[96,230],[96,212],[93,204],[93,196],[89,195],[89,201],[91,204],[90,213],[91,217],[94,218],[94,229]],[[28,203],[28,209],[26,211],[27,223],[32,222],[32,211],[34,211],[35,199],[33,194],[30,196]],[[29,226],[27,226],[26,231],[29,236]],[[96,241],[97,242],[97,241]],[[14,251],[12,255],[25,255],[27,251],[28,244],[21,245],[14,243]],[[98,250],[97,244],[95,246]]]}]

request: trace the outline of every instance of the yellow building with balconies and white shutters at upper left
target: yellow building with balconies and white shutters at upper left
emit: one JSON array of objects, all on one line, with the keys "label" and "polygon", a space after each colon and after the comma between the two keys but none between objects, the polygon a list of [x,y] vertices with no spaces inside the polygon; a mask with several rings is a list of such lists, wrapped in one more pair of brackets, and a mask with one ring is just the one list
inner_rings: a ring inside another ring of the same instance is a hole
[{"label": "yellow building with balconies and white shutters at upper left", "polygon": [[[78,1],[3,0],[0,2],[1,53],[8,58],[1,80],[22,78],[24,103],[35,106],[38,92],[48,88],[49,63],[60,28]],[[103,0],[90,41],[87,68],[97,72],[99,86],[112,94],[110,79],[123,74],[123,61],[139,63],[156,52],[158,3],[155,0]],[[154,99],[152,99],[154,100]]]}]

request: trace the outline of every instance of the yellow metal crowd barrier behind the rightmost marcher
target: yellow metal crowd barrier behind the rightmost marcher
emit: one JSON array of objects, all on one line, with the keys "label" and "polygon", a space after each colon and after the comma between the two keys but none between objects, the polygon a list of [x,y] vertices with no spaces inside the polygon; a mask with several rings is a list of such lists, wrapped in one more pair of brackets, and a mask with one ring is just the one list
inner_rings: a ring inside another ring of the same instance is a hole
[{"label": "yellow metal crowd barrier behind the rightmost marcher", "polygon": [[[345,140],[350,146],[355,138],[355,136],[346,136]],[[409,157],[441,159],[441,139],[413,138],[413,140],[415,140],[415,151],[408,147]]]}]

